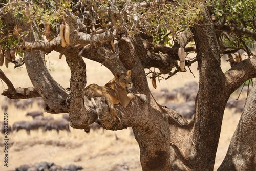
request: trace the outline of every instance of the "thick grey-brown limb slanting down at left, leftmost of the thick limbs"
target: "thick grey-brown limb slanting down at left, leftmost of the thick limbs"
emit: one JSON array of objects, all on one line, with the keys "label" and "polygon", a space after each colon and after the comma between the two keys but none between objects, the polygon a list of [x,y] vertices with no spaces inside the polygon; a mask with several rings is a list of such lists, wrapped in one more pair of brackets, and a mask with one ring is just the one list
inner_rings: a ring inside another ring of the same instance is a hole
[{"label": "thick grey-brown limb slanting down at left, leftmost of the thick limbs", "polygon": [[[35,41],[34,35],[30,33],[26,41]],[[49,113],[67,113],[68,92],[50,75],[46,67],[45,55],[41,51],[26,52],[24,62],[34,88],[45,100],[45,110]]]}]

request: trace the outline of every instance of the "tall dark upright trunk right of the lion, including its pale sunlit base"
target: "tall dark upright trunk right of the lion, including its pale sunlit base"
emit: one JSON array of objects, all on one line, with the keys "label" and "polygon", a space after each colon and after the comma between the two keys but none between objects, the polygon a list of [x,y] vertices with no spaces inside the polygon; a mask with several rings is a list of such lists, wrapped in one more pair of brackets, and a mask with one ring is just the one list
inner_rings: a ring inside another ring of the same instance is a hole
[{"label": "tall dark upright trunk right of the lion, including its pale sunlit base", "polygon": [[186,130],[178,128],[175,131],[171,125],[174,170],[213,170],[223,113],[229,98],[225,93],[218,41],[206,8],[202,15],[204,21],[193,27],[200,72],[195,116]]}]

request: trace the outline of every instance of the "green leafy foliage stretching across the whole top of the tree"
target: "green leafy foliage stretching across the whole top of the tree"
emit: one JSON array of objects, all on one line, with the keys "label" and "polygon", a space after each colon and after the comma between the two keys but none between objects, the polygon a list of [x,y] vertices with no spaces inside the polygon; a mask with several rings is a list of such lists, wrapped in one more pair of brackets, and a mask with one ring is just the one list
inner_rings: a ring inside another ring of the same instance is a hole
[{"label": "green leafy foliage stretching across the whole top of the tree", "polygon": [[[250,53],[249,48],[253,48],[255,39],[251,35],[235,32],[234,28],[255,32],[255,3],[253,0],[206,1],[213,21],[229,27],[229,31],[218,32],[221,48],[240,48]],[[204,10],[204,3],[192,0],[18,0],[1,5],[0,37],[2,47],[6,48],[24,42],[31,31],[42,39],[46,24],[51,27],[52,37],[57,36],[58,24],[65,15],[80,20],[86,27],[83,31],[88,34],[113,29],[119,35],[142,33],[156,44],[172,47],[174,42],[178,42],[181,32],[200,23],[203,19],[200,14]],[[29,24],[30,28],[24,30],[21,27],[23,23]]]}]

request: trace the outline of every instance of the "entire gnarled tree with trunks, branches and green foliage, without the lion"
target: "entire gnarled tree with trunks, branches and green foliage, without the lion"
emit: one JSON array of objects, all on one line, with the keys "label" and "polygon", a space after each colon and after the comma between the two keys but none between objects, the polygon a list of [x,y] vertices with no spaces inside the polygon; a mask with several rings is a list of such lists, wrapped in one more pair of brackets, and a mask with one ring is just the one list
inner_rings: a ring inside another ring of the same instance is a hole
[{"label": "entire gnarled tree with trunks, branches and green foliage, without the lion", "polygon": [[[9,62],[15,67],[25,64],[33,84],[31,88],[15,89],[1,73],[0,78],[8,86],[2,95],[15,99],[40,96],[45,100],[47,112],[67,112],[72,127],[89,132],[97,112],[88,107],[92,104],[83,95],[87,75],[82,58],[102,63],[113,74],[132,70],[131,92],[136,96],[125,109],[115,106],[120,122],[109,117],[103,98],[96,99],[102,106],[102,126],[109,130],[133,127],[143,170],[212,170],[225,104],[243,82],[256,77],[254,8],[252,0],[2,1],[0,55],[5,59],[0,56],[0,62],[3,65],[5,61],[6,67]],[[63,44],[67,36],[69,41]],[[60,58],[66,56],[71,69],[68,91],[47,71],[44,56],[51,51],[59,52]],[[191,52],[197,56],[181,60],[181,53],[185,57]],[[20,58],[14,58],[13,53]],[[225,54],[231,69],[223,72],[220,59]],[[195,117],[188,123],[177,112],[154,100],[144,69],[159,69],[158,73],[150,72],[152,79],[163,74],[171,79],[196,63],[200,73],[199,91]],[[249,97],[219,170],[255,168],[253,140],[256,137],[252,134],[255,123],[251,121],[256,115],[251,113],[255,114],[256,110],[246,110],[255,96]],[[244,129],[248,134],[243,133]],[[247,148],[233,145],[243,144],[242,141]],[[236,156],[242,149],[244,155],[250,154],[246,155],[248,159]],[[232,162],[234,158],[245,164]]]}]

